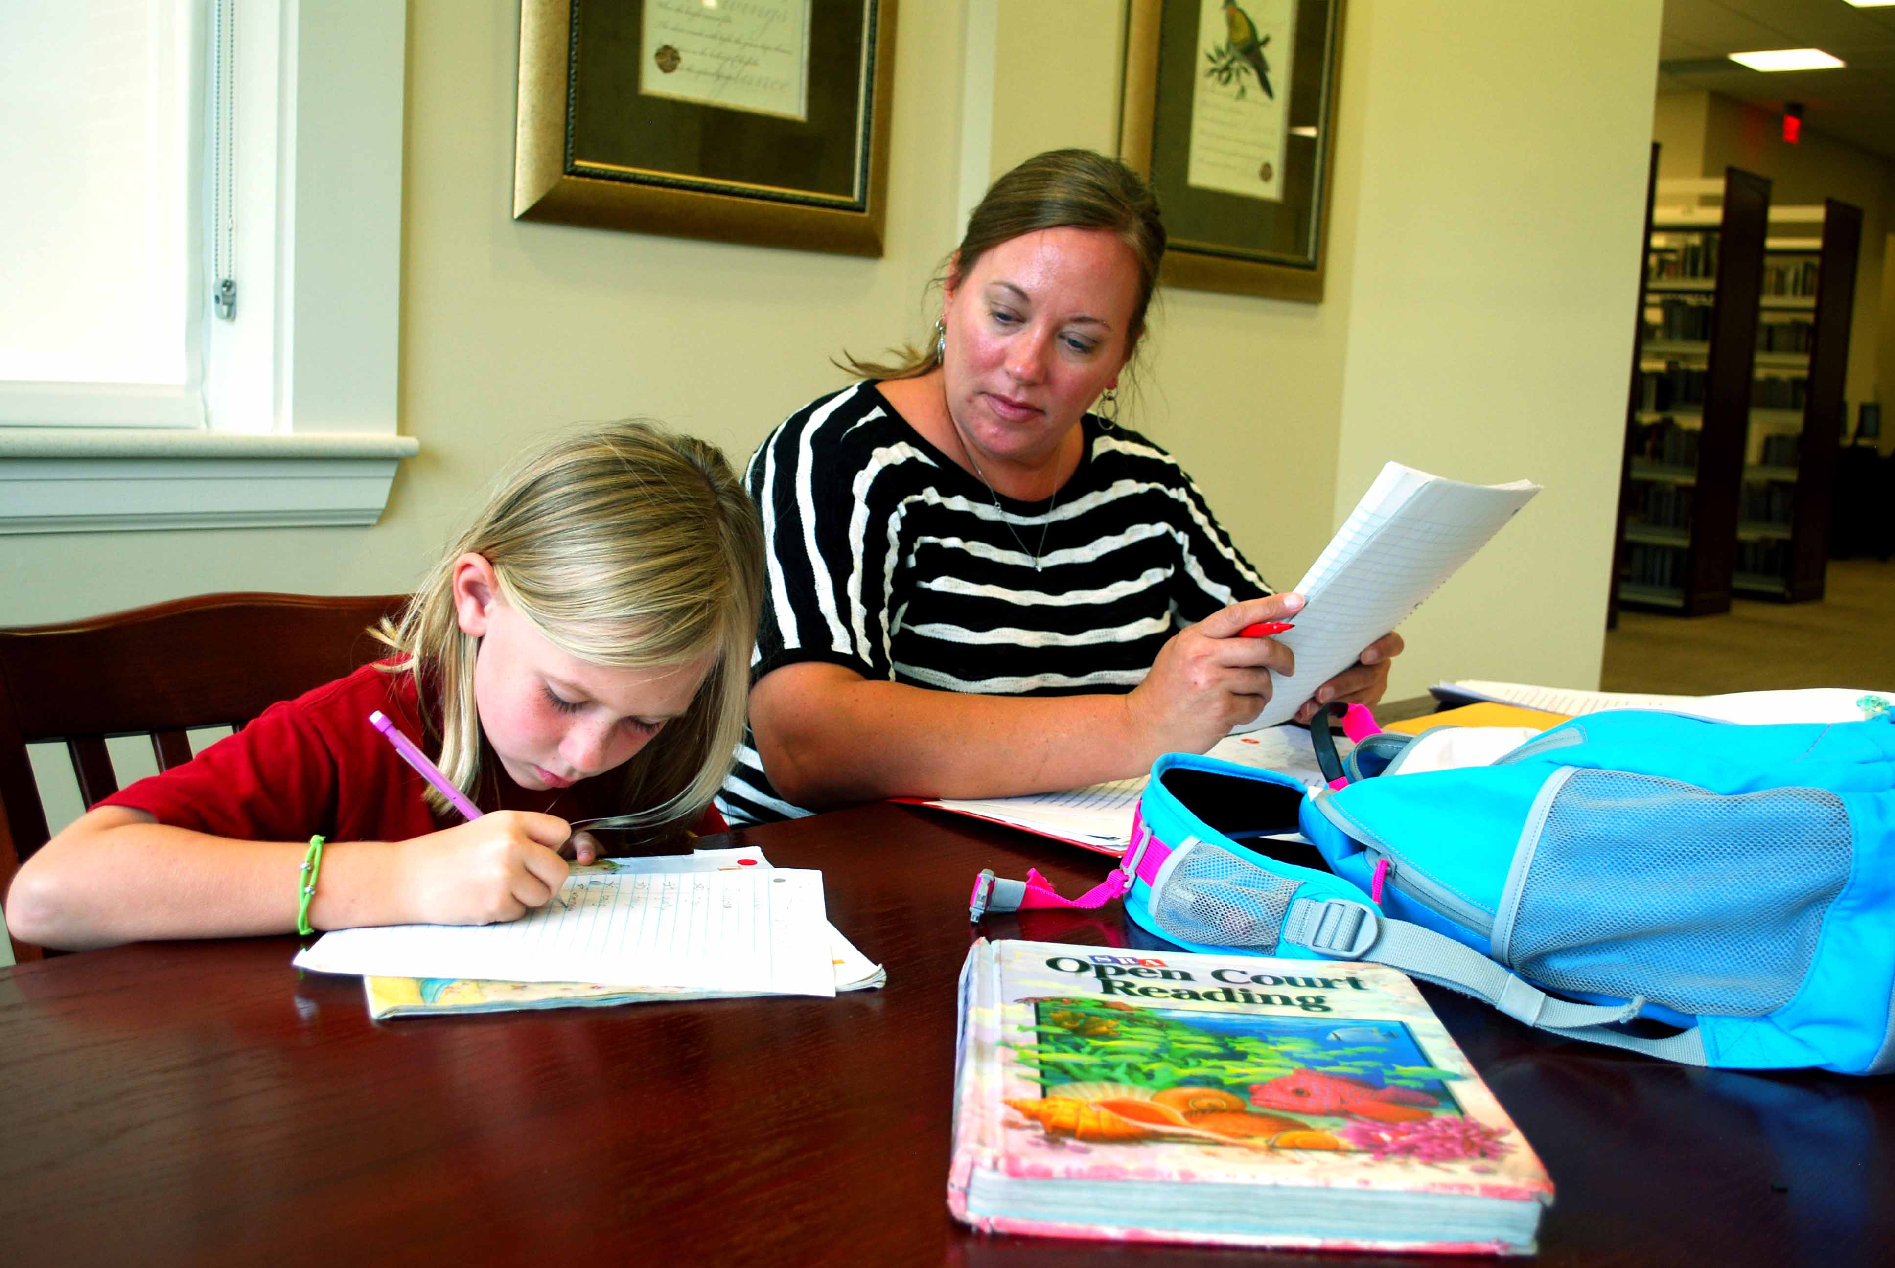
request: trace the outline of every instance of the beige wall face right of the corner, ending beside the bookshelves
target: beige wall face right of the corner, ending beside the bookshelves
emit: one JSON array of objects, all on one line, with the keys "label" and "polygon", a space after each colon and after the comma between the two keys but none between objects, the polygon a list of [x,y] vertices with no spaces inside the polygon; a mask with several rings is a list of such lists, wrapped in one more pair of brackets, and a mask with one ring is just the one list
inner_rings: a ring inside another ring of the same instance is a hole
[{"label": "beige wall face right of the corner, ending beside the bookshelves", "polygon": [[1393,694],[1453,677],[1594,688],[1660,4],[1349,15],[1363,99],[1344,114],[1359,174],[1338,199],[1355,246],[1334,519],[1389,459],[1544,485],[1408,622]]}]

